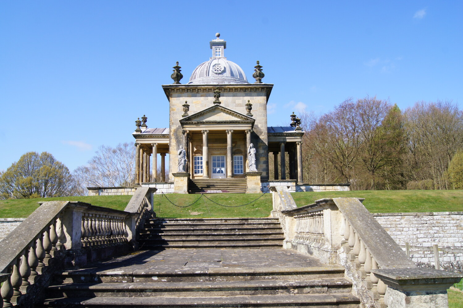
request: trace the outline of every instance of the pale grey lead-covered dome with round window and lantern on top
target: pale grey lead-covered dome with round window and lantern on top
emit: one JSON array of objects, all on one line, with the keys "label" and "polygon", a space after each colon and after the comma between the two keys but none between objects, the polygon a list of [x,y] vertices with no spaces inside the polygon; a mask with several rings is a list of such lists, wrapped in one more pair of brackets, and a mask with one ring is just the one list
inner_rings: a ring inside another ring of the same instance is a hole
[{"label": "pale grey lead-covered dome with round window and lantern on top", "polygon": [[217,39],[210,42],[212,55],[209,61],[203,62],[191,74],[188,84],[240,84],[249,83],[243,69],[238,64],[224,57],[226,41]]}]

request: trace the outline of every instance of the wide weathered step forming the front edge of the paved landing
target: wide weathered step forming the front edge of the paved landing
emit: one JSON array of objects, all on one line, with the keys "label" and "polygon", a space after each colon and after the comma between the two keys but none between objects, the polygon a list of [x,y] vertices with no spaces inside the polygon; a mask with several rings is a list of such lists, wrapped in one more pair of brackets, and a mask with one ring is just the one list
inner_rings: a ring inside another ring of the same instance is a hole
[{"label": "wide weathered step forming the front edge of the paved landing", "polygon": [[[232,266],[233,264],[228,264]],[[253,281],[344,278],[344,267],[338,265],[284,267],[209,267],[189,269],[67,270],[55,275],[58,283],[138,283],[138,282],[198,282]],[[156,279],[157,278],[157,279]]]}]

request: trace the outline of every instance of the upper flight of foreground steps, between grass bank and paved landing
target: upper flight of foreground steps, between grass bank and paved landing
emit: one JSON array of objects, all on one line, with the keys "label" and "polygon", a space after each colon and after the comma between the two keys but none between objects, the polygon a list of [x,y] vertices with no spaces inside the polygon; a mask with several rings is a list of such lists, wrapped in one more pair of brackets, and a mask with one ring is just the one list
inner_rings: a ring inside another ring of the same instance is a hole
[{"label": "upper flight of foreground steps, between grass bank and paved landing", "polygon": [[275,218],[152,219],[138,243],[141,249],[282,248],[283,239]]}]

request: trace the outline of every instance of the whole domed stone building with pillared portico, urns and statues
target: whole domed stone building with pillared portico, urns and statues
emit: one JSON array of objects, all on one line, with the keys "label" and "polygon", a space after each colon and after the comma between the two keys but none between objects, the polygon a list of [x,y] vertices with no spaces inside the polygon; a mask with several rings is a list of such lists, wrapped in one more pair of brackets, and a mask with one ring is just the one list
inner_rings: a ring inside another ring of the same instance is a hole
[{"label": "whole domed stone building with pillared portico, urns and statues", "polygon": [[[174,83],[162,86],[169,100],[169,128],[148,128],[145,117],[137,121],[136,184],[163,188],[155,183],[156,166],[161,159],[165,169],[168,153],[169,178],[161,181],[170,183],[169,188],[173,185],[175,192],[265,191],[273,153],[272,185],[295,189],[303,181],[300,119],[293,113],[291,126],[268,126],[273,84],[262,82],[258,61],[256,81],[250,83],[243,69],[225,57],[226,41],[219,37],[217,33],[209,43],[212,57],[194,69],[186,84],[180,83],[177,62],[171,75]],[[280,152],[289,153],[289,179],[285,156],[278,160]]]}]

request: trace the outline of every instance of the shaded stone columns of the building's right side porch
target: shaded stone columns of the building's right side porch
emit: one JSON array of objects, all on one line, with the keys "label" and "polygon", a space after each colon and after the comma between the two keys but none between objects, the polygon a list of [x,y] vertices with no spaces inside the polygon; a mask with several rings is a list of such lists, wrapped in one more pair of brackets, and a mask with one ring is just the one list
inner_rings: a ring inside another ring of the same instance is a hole
[{"label": "shaded stone columns of the building's right side porch", "polygon": [[[280,152],[273,152],[273,170],[275,180],[286,180],[286,157],[285,157],[285,141],[280,142]],[[278,153],[280,153],[280,164],[278,164]],[[302,141],[296,141],[296,151],[290,150],[289,153],[289,174],[294,177],[297,182],[302,183]],[[279,169],[281,171],[279,177]],[[295,174],[297,173],[297,175]]]}]

